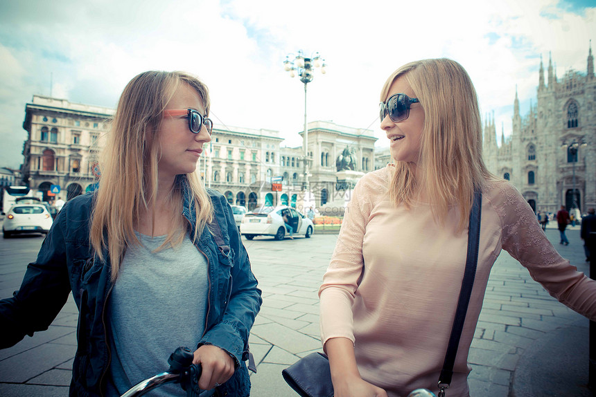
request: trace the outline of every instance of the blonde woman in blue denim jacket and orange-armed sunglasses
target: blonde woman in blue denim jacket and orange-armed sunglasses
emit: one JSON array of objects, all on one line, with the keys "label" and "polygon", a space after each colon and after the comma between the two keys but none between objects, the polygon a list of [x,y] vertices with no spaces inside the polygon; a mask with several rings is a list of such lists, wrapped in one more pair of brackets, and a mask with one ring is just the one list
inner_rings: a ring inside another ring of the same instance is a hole
[{"label": "blonde woman in blue denim jacket and orange-armed sunglasses", "polygon": [[[207,86],[149,71],[125,87],[98,190],[64,205],[21,288],[0,301],[0,347],[48,329],[69,293],[79,308],[71,396],[120,396],[200,363],[201,396],[248,396],[248,337],[261,291],[222,194],[196,172],[211,141]],[[155,396],[186,395],[164,385]]]}]

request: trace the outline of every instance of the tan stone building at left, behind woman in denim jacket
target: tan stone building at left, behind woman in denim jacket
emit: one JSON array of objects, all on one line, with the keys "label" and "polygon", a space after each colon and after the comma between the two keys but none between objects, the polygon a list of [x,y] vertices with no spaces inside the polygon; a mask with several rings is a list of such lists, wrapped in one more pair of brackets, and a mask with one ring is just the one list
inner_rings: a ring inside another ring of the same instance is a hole
[{"label": "tan stone building at left, behind woman in denim jacket", "polygon": [[[114,109],[33,95],[25,106],[23,183],[42,192],[43,200],[69,200],[93,190],[96,165]],[[51,185],[60,193],[49,196]]]}]

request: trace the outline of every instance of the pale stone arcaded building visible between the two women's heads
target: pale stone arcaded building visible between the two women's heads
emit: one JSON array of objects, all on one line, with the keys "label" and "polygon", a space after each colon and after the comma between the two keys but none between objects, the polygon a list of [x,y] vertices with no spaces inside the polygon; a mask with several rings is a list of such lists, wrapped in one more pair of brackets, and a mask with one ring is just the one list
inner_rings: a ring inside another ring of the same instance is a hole
[{"label": "pale stone arcaded building visible between the two women's heads", "polygon": [[[300,133],[304,135],[304,131]],[[349,146],[358,171],[374,170],[374,133],[333,122],[308,123],[310,191],[319,207],[338,191],[335,159]],[[207,156],[199,165],[205,185],[219,190],[230,204],[248,210],[260,205],[291,205],[302,211],[304,202],[304,148],[283,147],[278,131],[215,125]],[[281,184],[273,191],[272,183]]]}]

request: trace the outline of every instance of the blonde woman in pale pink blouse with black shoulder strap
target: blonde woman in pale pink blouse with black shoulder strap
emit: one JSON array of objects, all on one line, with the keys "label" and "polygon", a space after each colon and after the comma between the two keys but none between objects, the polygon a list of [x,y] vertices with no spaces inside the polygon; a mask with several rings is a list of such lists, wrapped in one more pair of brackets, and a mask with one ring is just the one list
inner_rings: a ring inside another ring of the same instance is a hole
[{"label": "blonde woman in pale pink blouse with black shoulder strap", "polygon": [[319,290],[335,396],[438,392],[477,186],[480,252],[447,390],[448,397],[468,396],[468,350],[502,249],[590,320],[596,320],[596,282],[559,256],[515,187],[488,172],[475,89],[461,65],[406,64],[389,76],[380,98],[380,127],[394,164],[356,185]]}]

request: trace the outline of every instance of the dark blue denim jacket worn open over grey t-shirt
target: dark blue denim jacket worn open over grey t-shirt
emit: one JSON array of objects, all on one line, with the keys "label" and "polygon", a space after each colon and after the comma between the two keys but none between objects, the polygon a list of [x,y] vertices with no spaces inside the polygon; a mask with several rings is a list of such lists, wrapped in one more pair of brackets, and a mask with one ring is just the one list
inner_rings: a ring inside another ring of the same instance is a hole
[{"label": "dark blue denim jacket worn open over grey t-shirt", "polygon": [[[182,192],[182,214],[189,221],[192,236],[195,213],[184,183]],[[209,266],[209,293],[207,331],[194,348],[213,344],[227,351],[236,362],[236,371],[218,389],[224,396],[248,396],[250,381],[245,360],[249,356],[249,331],[262,303],[261,290],[250,269],[231,207],[219,192],[208,193],[214,222],[220,225],[224,241],[216,243],[209,228],[195,241]],[[103,396],[111,359],[105,309],[113,284],[109,259],[100,261],[89,246],[93,200],[94,195],[89,193],[64,205],[37,259],[28,265],[21,288],[13,297],[0,301],[0,348],[6,348],[24,335],[48,329],[72,291],[79,320],[70,396]],[[107,253],[104,257],[108,258]]]}]

